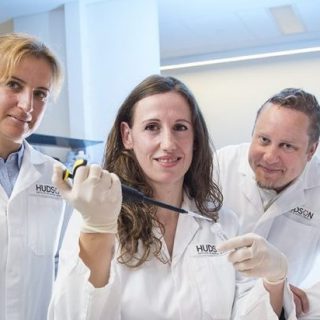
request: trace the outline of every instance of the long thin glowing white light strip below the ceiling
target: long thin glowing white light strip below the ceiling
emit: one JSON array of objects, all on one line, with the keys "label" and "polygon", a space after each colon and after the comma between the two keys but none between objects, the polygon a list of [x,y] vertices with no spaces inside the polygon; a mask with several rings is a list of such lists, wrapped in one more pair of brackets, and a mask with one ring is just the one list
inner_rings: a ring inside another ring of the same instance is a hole
[{"label": "long thin glowing white light strip below the ceiling", "polygon": [[312,52],[320,52],[320,47],[274,51],[274,52],[257,53],[257,54],[251,54],[251,55],[245,55],[245,56],[173,64],[173,65],[161,66],[160,70],[165,71],[165,70],[175,70],[175,69],[184,69],[184,68],[194,68],[194,67],[208,66],[213,64],[249,61],[249,60],[257,60],[257,59],[265,59],[265,58],[273,58],[273,57],[281,57],[281,56],[291,56],[296,54],[312,53]]}]

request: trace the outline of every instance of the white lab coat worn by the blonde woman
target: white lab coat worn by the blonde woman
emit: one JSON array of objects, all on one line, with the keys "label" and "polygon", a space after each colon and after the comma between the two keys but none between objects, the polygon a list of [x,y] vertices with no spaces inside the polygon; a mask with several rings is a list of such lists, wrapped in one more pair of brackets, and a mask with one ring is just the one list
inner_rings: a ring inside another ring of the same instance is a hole
[{"label": "white lab coat worn by the blonde woman", "polygon": [[25,143],[8,196],[0,185],[0,319],[46,318],[65,202],[51,183],[54,160]]}]

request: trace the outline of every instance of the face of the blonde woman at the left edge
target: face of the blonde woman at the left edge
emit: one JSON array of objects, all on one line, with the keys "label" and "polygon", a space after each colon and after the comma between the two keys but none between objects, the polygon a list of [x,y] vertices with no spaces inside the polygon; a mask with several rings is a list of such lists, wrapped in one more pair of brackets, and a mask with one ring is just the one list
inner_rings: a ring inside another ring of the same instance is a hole
[{"label": "face of the blonde woman at the left edge", "polygon": [[21,144],[38,127],[45,110],[52,70],[43,58],[27,56],[0,83],[0,143]]}]

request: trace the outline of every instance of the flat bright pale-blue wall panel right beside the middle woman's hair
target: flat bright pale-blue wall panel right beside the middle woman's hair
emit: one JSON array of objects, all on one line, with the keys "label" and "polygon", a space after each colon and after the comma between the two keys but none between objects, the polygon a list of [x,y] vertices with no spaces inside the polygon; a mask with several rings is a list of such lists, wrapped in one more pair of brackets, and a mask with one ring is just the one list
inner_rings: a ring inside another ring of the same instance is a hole
[{"label": "flat bright pale-blue wall panel right beside the middle woman's hair", "polygon": [[159,73],[156,1],[100,1],[86,7],[86,24],[87,136],[105,139],[133,87]]}]

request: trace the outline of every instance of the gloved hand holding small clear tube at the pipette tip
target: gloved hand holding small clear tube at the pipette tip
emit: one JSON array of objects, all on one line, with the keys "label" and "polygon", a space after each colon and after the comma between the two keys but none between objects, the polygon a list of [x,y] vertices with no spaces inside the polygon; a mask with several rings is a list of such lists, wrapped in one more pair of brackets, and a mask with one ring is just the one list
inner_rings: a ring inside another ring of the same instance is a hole
[{"label": "gloved hand holding small clear tube at the pipette tip", "polygon": [[263,237],[248,233],[217,245],[218,251],[231,251],[229,261],[248,277],[260,277],[270,283],[285,279],[288,263],[285,255]]}]

